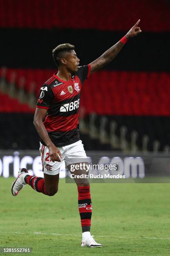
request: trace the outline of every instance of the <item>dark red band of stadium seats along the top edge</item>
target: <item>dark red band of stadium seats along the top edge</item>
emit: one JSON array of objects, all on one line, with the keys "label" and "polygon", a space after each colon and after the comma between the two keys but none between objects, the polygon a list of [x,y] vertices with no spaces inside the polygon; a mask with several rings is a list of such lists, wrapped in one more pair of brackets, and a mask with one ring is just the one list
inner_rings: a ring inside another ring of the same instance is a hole
[{"label": "dark red band of stadium seats along the top edge", "polygon": [[138,8],[135,0],[1,0],[0,27],[126,31],[141,18],[143,31],[163,32],[170,31],[169,13],[170,4],[162,0],[139,1]]}]

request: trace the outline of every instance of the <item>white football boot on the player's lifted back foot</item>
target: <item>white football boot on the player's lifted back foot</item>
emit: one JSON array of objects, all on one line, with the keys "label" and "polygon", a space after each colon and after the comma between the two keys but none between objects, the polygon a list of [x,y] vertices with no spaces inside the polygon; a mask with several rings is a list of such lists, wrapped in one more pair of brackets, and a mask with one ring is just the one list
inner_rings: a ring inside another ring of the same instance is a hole
[{"label": "white football boot on the player's lifted back foot", "polygon": [[24,180],[26,175],[28,175],[28,170],[25,168],[20,169],[18,172],[18,177],[15,179],[11,187],[13,196],[17,196],[20,190],[27,184]]}]

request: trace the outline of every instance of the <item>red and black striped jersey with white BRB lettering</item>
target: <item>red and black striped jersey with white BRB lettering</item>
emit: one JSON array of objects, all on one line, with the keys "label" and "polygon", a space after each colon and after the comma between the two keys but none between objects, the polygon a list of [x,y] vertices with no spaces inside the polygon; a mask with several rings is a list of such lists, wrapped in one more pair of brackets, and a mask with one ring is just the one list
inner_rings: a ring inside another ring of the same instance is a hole
[{"label": "red and black striped jersey with white BRB lettering", "polygon": [[[37,108],[47,109],[43,122],[55,146],[66,146],[80,140],[78,117],[82,84],[90,75],[90,64],[81,66],[70,81],[64,81],[56,74],[40,89]],[[45,143],[40,139],[41,143]]]}]

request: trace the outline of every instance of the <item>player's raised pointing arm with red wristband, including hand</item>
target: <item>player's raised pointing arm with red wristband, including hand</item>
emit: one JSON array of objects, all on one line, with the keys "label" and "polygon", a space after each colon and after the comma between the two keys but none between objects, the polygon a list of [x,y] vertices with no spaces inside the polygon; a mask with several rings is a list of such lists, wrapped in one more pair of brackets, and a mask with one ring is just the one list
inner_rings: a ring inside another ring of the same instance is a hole
[{"label": "player's raised pointing arm with red wristband, including hand", "polygon": [[125,42],[129,38],[137,36],[140,32],[142,32],[140,30],[140,27],[138,27],[139,22],[140,20],[138,20],[138,22],[125,35],[125,37],[122,38],[120,41],[118,41],[117,44],[115,44],[110,49],[105,51],[104,54],[102,54],[98,59],[90,63],[90,66],[91,66],[90,74],[92,74],[93,72],[97,71],[98,69],[101,69],[102,67],[110,63],[110,61],[112,61],[115,58],[115,56],[120,52]]}]

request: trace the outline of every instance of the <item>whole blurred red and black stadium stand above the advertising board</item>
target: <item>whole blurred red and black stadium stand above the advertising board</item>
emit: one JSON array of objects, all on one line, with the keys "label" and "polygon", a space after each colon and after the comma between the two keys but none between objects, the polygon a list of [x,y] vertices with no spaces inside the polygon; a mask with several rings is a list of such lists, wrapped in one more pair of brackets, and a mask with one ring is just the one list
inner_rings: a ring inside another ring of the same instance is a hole
[{"label": "whole blurred red and black stadium stand above the advertising board", "polygon": [[84,84],[81,138],[86,150],[169,152],[169,13],[164,0],[141,0],[138,8],[130,0],[1,0],[1,148],[38,148],[33,113],[42,83],[56,72],[57,44],[75,44],[88,64],[140,18],[143,33]]}]

